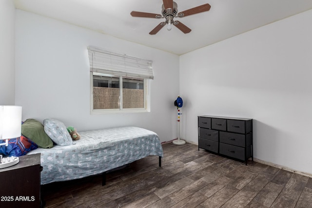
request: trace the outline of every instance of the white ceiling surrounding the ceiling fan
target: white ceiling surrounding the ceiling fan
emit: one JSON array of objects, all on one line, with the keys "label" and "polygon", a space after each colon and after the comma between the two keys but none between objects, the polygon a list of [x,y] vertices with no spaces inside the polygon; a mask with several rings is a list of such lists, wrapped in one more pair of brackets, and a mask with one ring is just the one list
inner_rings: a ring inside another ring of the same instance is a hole
[{"label": "white ceiling surrounding the ceiling fan", "polygon": [[14,0],[14,3],[20,10],[177,55],[312,9],[312,0],[175,1],[178,12],[205,3],[209,3],[211,9],[175,18],[192,29],[188,34],[173,26],[171,31],[163,27],[156,35],[149,35],[163,19],[132,17],[130,12],[161,14],[162,0]]}]

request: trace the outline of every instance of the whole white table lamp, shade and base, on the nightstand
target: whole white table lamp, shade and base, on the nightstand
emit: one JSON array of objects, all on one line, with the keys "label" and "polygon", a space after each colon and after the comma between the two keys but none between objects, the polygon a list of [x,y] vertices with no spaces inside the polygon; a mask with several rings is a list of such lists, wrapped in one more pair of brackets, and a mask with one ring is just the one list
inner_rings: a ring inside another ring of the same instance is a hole
[{"label": "whole white table lamp, shade and base, on the nightstand", "polygon": [[[21,135],[21,106],[0,106],[0,146],[9,145],[9,139]],[[19,163],[18,157],[4,157],[0,155],[0,168],[7,168]]]}]

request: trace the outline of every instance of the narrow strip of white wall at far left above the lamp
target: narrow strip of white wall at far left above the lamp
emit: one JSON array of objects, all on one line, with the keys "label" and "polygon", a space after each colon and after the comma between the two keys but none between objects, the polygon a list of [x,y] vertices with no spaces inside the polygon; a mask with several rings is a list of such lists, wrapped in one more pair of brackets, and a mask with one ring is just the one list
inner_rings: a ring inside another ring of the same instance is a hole
[{"label": "narrow strip of white wall at far left above the lamp", "polygon": [[0,105],[14,105],[15,6],[12,0],[0,0],[0,28]]}]

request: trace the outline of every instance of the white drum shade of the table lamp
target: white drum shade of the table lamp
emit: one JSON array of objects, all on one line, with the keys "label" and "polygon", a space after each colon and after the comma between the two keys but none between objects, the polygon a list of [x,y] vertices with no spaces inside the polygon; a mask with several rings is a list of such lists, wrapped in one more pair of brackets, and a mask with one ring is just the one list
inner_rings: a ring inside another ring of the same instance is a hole
[{"label": "white drum shade of the table lamp", "polygon": [[0,106],[0,139],[20,137],[21,106]]}]

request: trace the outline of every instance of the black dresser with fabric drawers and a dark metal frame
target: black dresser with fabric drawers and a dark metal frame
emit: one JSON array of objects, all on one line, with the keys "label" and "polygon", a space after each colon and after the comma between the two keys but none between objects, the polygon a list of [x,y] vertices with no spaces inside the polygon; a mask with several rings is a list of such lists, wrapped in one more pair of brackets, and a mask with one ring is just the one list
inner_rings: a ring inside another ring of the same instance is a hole
[{"label": "black dresser with fabric drawers and a dark metal frame", "polygon": [[198,116],[199,148],[246,162],[254,160],[253,119]]}]

